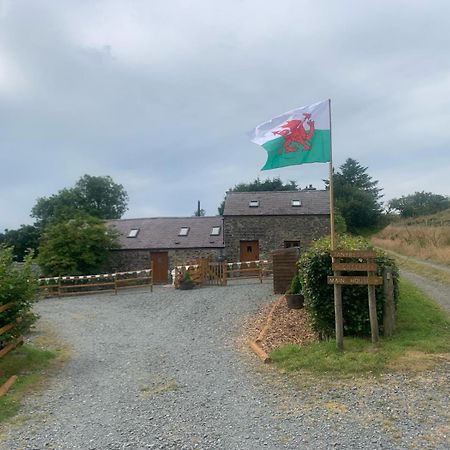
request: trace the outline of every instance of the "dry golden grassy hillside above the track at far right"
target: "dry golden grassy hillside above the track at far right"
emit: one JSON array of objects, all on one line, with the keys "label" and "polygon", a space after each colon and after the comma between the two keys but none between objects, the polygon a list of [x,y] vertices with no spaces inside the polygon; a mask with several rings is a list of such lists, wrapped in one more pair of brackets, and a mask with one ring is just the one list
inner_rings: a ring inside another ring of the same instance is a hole
[{"label": "dry golden grassy hillside above the track at far right", "polygon": [[450,266],[450,209],[430,216],[398,219],[377,233],[378,247]]}]

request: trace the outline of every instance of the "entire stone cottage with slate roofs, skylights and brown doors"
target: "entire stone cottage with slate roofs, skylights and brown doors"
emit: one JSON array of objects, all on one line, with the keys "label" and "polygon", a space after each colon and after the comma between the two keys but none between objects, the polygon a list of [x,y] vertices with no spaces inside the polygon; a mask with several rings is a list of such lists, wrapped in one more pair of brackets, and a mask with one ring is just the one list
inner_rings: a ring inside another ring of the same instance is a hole
[{"label": "entire stone cottage with slate roofs, skylights and brown doors", "polygon": [[268,259],[279,248],[304,251],[330,232],[329,192],[228,192],[223,217],[109,220],[119,232],[110,270],[137,270],[153,262],[154,281],[165,283],[175,264]]}]

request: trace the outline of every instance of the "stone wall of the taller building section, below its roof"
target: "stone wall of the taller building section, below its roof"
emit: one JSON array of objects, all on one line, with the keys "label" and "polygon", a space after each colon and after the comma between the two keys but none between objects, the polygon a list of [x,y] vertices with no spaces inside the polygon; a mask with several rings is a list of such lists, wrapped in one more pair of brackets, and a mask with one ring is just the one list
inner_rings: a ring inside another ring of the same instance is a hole
[{"label": "stone wall of the taller building section, below its roof", "polygon": [[313,241],[330,233],[328,215],[311,216],[225,216],[225,258],[239,261],[240,241],[259,241],[259,257],[266,259],[284,241],[299,241],[300,252]]}]

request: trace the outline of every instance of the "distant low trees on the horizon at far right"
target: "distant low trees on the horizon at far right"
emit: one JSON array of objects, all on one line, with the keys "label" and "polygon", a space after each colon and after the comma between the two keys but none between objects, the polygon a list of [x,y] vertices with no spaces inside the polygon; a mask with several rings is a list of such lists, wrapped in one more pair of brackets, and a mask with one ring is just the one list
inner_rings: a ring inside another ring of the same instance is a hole
[{"label": "distant low trees on the horizon at far right", "polygon": [[393,198],[388,207],[391,211],[398,211],[402,217],[425,216],[450,208],[450,198],[431,192],[415,192]]}]

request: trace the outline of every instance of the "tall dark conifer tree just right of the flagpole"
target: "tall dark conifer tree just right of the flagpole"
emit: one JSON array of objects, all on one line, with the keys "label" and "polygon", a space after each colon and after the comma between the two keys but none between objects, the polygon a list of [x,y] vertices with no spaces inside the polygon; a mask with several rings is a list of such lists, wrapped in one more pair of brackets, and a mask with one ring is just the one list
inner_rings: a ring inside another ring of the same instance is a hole
[{"label": "tall dark conifer tree just right of the flagpole", "polygon": [[341,212],[348,231],[375,226],[381,217],[382,191],[378,181],[367,174],[367,167],[348,158],[333,174],[335,206]]}]

